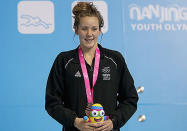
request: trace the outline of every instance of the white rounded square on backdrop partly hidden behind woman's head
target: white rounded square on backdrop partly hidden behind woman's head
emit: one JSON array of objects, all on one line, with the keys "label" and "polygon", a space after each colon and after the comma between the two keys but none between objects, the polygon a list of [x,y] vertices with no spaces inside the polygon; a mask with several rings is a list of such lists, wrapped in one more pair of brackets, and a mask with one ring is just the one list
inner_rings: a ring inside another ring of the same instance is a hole
[{"label": "white rounded square on backdrop partly hidden behind woman's head", "polygon": [[[80,1],[79,1],[80,2]],[[103,16],[104,20],[104,26],[102,28],[102,32],[106,33],[108,31],[108,8],[107,3],[105,1],[89,1],[93,2],[93,4],[96,6],[96,8],[101,12],[101,15]],[[72,3],[72,9],[77,4],[77,1],[74,1]],[[73,16],[73,14],[72,14]],[[72,29],[73,29],[73,23],[74,19],[72,18]]]}]

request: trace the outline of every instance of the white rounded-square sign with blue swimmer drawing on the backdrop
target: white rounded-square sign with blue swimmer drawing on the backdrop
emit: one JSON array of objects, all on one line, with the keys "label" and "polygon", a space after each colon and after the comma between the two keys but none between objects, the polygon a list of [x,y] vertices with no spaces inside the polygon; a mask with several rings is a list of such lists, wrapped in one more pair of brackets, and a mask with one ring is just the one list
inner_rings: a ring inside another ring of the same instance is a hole
[{"label": "white rounded-square sign with blue swimmer drawing on the backdrop", "polygon": [[51,1],[21,1],[17,8],[20,33],[49,34],[54,31],[54,5]]}]

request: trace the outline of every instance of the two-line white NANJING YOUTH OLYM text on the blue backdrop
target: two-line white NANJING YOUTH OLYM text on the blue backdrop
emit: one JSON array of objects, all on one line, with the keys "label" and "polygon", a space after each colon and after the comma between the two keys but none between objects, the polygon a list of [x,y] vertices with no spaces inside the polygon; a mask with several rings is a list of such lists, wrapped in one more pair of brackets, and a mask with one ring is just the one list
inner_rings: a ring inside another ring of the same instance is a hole
[{"label": "two-line white NANJING YOUTH OLYM text on the blue backdrop", "polygon": [[187,7],[129,5],[129,17],[133,31],[187,31]]}]

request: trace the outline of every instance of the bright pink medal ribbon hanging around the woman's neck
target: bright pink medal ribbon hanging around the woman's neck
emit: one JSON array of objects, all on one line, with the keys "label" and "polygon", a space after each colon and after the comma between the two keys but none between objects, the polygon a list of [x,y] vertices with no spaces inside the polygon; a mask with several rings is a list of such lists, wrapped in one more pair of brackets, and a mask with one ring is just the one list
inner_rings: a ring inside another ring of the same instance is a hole
[{"label": "bright pink medal ribbon hanging around the woman's neck", "polygon": [[78,53],[79,53],[79,60],[80,60],[81,68],[82,68],[82,73],[84,76],[84,84],[85,84],[85,89],[86,89],[87,101],[88,101],[88,103],[93,104],[93,87],[96,83],[98,71],[99,71],[100,50],[97,47],[96,52],[95,52],[95,64],[94,64],[94,72],[93,72],[92,90],[90,89],[90,81],[88,78],[88,72],[87,72],[83,52],[82,52],[82,49],[80,46],[78,48]]}]

